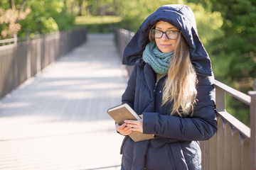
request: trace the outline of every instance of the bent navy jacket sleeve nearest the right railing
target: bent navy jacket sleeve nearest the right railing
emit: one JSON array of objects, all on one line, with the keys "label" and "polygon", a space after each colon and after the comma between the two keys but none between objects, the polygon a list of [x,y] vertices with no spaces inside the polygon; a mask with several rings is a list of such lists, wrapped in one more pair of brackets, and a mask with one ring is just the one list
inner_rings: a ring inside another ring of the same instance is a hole
[{"label": "bent navy jacket sleeve nearest the right railing", "polygon": [[193,117],[143,113],[143,132],[175,140],[208,140],[217,131],[213,77],[198,76]]}]

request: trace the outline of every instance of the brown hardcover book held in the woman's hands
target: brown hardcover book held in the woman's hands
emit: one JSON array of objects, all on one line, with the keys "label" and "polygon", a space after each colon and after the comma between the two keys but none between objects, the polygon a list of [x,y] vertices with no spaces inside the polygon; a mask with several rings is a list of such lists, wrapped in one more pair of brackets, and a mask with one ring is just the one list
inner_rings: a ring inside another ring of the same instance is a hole
[{"label": "brown hardcover book held in the woman's hands", "polygon": [[[112,119],[118,124],[122,125],[124,120],[140,120],[142,119],[139,115],[127,104],[124,103],[119,106],[115,106],[114,108],[110,108],[107,110],[107,113],[110,115]],[[139,142],[142,140],[150,140],[154,138],[153,134],[144,134],[142,132],[132,131],[129,137],[134,140],[134,142]]]}]

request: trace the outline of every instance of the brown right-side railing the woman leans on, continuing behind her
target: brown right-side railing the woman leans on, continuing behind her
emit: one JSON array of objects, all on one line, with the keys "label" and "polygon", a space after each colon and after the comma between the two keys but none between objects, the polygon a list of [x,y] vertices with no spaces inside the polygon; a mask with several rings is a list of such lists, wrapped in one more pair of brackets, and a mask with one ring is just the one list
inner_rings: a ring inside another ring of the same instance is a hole
[{"label": "brown right-side railing the woman leans on, continuing behind her", "polygon": [[[134,35],[124,29],[114,31],[119,54]],[[129,68],[130,70],[132,68]],[[128,74],[131,72],[128,70]],[[206,141],[201,141],[203,170],[255,170],[256,169],[256,80],[249,95],[232,89],[215,80],[218,131]],[[225,110],[225,94],[250,106],[250,128]]]}]

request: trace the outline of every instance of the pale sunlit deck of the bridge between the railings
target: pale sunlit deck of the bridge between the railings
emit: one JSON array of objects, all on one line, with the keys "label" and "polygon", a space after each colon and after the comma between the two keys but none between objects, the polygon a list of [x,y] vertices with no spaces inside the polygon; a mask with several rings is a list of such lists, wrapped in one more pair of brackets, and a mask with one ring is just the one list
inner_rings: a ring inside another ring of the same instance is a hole
[{"label": "pale sunlit deck of the bridge between the railings", "polygon": [[126,86],[114,36],[87,42],[0,101],[0,169],[119,169],[107,108]]}]

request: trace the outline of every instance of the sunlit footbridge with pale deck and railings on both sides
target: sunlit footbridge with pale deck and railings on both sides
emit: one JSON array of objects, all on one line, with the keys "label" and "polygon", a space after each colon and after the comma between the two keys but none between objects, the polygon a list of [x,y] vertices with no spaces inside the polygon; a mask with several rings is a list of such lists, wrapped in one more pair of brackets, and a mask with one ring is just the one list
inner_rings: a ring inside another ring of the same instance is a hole
[{"label": "sunlit footbridge with pale deck and railings on both sides", "polygon": [[[120,169],[123,137],[106,111],[126,87],[120,55],[132,35],[80,30],[0,47],[0,170]],[[218,132],[201,142],[203,169],[255,170],[256,92],[215,87]],[[250,106],[250,128],[225,111],[225,94]]]}]

